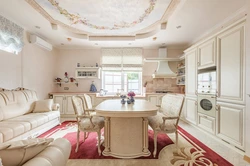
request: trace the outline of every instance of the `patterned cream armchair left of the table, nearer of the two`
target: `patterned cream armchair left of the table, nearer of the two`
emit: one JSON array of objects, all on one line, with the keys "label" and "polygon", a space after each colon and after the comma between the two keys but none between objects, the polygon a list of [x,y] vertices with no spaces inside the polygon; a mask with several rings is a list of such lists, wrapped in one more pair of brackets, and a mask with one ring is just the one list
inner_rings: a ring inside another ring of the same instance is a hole
[{"label": "patterned cream armchair left of the table, nearer of the two", "polygon": [[72,104],[76,114],[77,121],[77,145],[75,152],[78,151],[79,147],[79,134],[80,131],[84,132],[83,143],[87,139],[89,132],[97,132],[98,135],[98,153],[101,155],[100,149],[100,137],[101,129],[104,127],[104,118],[96,115],[92,115],[86,108],[86,103],[82,96],[72,96]]}]

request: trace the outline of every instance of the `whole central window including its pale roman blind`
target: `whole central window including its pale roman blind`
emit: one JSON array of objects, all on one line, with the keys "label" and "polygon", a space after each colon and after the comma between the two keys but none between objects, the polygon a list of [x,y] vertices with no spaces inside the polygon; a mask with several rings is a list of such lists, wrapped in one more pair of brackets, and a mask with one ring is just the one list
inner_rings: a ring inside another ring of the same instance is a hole
[{"label": "whole central window including its pale roman blind", "polygon": [[102,89],[142,92],[142,50],[138,48],[102,50]]}]

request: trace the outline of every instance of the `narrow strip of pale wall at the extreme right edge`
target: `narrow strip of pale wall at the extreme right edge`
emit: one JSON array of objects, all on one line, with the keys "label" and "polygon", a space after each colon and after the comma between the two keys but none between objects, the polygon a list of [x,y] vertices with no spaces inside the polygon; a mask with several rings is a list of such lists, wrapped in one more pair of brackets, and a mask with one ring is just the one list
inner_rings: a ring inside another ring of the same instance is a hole
[{"label": "narrow strip of pale wall at the extreme right edge", "polygon": [[247,1],[246,23],[246,155],[250,157],[250,0]]}]

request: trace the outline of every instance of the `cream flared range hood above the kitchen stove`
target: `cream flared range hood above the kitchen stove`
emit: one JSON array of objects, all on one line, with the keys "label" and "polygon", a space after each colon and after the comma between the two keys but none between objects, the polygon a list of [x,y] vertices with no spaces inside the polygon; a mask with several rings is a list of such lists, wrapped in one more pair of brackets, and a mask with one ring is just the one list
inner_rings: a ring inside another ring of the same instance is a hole
[{"label": "cream flared range hood above the kitchen stove", "polygon": [[169,62],[177,62],[179,58],[168,58],[167,57],[167,48],[159,48],[158,57],[154,58],[145,58],[145,62],[157,62],[158,66],[156,72],[152,75],[153,78],[175,78],[176,73],[174,73],[170,67]]}]

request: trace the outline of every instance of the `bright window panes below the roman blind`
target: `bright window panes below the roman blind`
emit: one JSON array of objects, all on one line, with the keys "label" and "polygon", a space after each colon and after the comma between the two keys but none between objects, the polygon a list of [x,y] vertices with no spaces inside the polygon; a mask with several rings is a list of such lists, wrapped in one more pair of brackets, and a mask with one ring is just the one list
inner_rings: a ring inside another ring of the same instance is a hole
[{"label": "bright window panes below the roman blind", "polygon": [[124,92],[134,91],[136,94],[141,94],[141,75],[141,72],[103,71],[103,89],[107,90],[108,94],[116,94],[120,90]]}]

